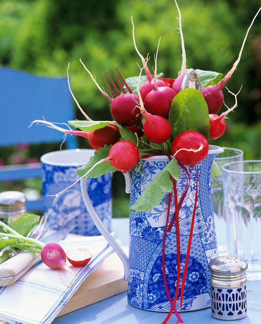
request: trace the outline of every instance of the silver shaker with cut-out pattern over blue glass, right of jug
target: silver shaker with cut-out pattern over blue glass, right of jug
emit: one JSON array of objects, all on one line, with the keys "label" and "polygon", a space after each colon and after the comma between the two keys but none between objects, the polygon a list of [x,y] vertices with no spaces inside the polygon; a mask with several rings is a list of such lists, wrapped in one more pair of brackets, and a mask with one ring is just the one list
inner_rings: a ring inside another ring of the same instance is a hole
[{"label": "silver shaker with cut-out pattern over blue glass, right of jug", "polygon": [[221,256],[212,259],[208,268],[212,317],[225,321],[246,317],[246,261]]}]

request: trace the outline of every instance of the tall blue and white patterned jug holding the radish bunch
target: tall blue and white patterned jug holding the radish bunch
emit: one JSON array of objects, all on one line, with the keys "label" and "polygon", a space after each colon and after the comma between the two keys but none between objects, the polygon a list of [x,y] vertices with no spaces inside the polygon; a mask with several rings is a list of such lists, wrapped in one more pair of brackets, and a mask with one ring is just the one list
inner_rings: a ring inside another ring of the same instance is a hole
[{"label": "tall blue and white patterned jug holding the radish bunch", "polygon": [[[213,205],[210,188],[210,171],[214,158],[223,152],[219,146],[209,145],[207,157],[198,163],[198,195],[196,202],[195,223],[192,245],[184,287],[182,311],[210,307],[210,272],[208,263],[218,256]],[[126,192],[130,192],[132,206],[146,186],[169,162],[167,156],[153,156],[142,159],[141,173],[134,168],[125,175]],[[181,280],[184,271],[188,238],[191,228],[192,214],[196,193],[196,167],[186,167],[190,176],[190,185],[179,211]],[[180,167],[180,179],[177,181],[178,200],[189,184],[187,173]],[[128,302],[138,308],[158,312],[171,309],[162,278],[162,244],[167,219],[168,197],[153,210],[141,213],[130,213],[129,259],[121,247],[115,242],[109,231],[103,226],[96,214],[86,190],[86,179],[81,180],[81,192],[85,206],[95,225],[120,256],[125,267],[125,280],[128,284]],[[174,214],[174,198],[172,194],[170,219]],[[165,273],[172,300],[177,283],[176,228],[167,232],[165,247]],[[180,290],[176,302],[180,311]]]}]

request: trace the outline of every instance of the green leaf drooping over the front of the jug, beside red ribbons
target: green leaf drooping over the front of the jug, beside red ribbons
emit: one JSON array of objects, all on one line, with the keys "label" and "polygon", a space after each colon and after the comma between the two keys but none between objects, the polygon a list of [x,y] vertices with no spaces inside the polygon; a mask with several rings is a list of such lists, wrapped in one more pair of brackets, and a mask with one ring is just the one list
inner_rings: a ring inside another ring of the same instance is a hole
[{"label": "green leaf drooping over the front of the jug, beside red ribbons", "polygon": [[157,206],[163,199],[165,192],[171,192],[173,189],[170,175],[176,180],[180,177],[180,170],[175,158],[172,158],[166,167],[148,184],[130,210],[132,212],[145,212]]}]

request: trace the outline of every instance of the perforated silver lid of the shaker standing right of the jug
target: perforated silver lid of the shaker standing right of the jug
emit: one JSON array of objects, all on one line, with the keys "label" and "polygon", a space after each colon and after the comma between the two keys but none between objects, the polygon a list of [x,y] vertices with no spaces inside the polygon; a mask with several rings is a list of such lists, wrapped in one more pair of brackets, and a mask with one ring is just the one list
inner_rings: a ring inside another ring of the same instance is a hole
[{"label": "perforated silver lid of the shaker standing right of the jug", "polygon": [[208,264],[209,270],[219,275],[239,274],[245,272],[247,267],[244,259],[230,255],[216,257]]}]

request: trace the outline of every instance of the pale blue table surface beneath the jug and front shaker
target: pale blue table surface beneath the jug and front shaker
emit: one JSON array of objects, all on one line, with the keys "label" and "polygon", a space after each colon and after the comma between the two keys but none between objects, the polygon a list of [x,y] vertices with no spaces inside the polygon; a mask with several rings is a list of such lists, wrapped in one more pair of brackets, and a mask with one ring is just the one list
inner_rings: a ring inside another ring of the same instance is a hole
[{"label": "pale blue table surface beneath the jug and front shaker", "polygon": [[[129,219],[113,219],[112,230],[118,233],[122,245],[128,245]],[[261,324],[261,281],[247,282],[247,314],[248,316],[236,323]],[[127,293],[122,293],[75,312],[55,318],[53,324],[161,324],[166,313],[150,312],[135,308],[127,303]],[[176,323],[172,315],[170,324]],[[210,308],[184,312],[182,319],[185,324],[218,323],[212,318]]]}]

